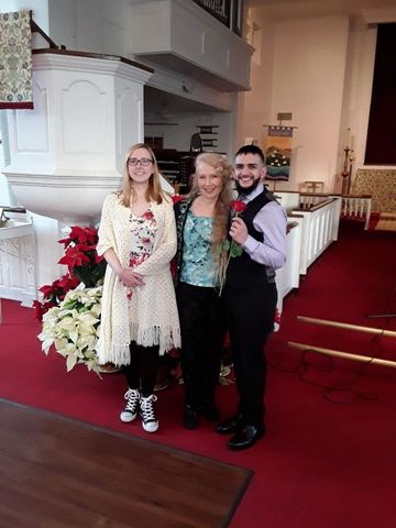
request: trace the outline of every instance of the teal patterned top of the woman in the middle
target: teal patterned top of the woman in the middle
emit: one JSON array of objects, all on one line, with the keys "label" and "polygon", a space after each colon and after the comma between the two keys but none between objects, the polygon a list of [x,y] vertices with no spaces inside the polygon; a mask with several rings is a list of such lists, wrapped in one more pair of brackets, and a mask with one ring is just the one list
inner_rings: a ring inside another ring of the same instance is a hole
[{"label": "teal patterned top of the woman in the middle", "polygon": [[193,286],[215,286],[215,264],[210,245],[213,219],[188,211],[183,232],[180,280]]}]

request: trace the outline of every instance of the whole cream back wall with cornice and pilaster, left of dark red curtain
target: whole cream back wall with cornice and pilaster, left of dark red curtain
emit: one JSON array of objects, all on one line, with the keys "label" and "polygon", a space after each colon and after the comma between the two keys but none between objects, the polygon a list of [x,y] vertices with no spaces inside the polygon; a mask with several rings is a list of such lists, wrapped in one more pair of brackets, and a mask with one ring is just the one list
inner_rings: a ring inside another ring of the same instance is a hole
[{"label": "whole cream back wall with cornice and pilaster, left of dark red curtain", "polygon": [[262,124],[277,124],[277,112],[293,112],[293,121],[283,122],[298,127],[290,179],[276,183],[276,189],[322,180],[326,190],[339,193],[344,147],[353,148],[352,179],[364,164],[375,24],[396,21],[395,2],[278,0],[266,8],[254,0],[252,6],[246,38],[256,52],[252,91],[240,95],[239,142],[262,142]]}]

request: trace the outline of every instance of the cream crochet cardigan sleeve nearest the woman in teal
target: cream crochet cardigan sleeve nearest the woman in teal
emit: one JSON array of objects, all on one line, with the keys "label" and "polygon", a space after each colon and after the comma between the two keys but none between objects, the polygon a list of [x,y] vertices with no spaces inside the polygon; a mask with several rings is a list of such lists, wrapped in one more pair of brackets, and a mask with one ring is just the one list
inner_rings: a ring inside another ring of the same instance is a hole
[{"label": "cream crochet cardigan sleeve nearest the woman in teal", "polygon": [[164,229],[161,240],[151,256],[133,271],[142,275],[158,275],[168,267],[176,253],[176,222],[173,207],[165,202]]}]

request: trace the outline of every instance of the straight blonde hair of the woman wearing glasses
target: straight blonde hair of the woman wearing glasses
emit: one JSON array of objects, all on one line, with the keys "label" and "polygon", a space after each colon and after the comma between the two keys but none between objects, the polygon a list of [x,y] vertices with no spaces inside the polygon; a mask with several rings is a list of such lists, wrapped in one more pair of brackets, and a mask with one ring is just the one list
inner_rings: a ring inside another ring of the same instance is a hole
[{"label": "straight blonde hair of the woman wearing glasses", "polygon": [[130,146],[127,151],[125,158],[124,158],[123,177],[122,177],[121,201],[125,207],[130,207],[131,205],[131,198],[133,195],[133,180],[129,175],[128,160],[138,148],[145,148],[153,161],[153,174],[150,176],[150,179],[148,179],[148,187],[146,190],[146,200],[155,201],[156,204],[162,204],[164,199],[164,191],[162,190],[161,184],[160,184],[160,172],[158,172],[157,161],[152,147],[146,143],[136,143],[135,145]]}]

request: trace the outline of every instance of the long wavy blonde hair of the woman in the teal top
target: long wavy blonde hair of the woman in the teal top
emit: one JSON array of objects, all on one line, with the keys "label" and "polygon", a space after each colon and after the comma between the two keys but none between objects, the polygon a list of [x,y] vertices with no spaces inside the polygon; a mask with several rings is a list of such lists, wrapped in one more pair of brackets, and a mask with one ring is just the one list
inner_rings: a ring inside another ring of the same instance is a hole
[{"label": "long wavy blonde hair of the woman in the teal top", "polygon": [[211,251],[216,266],[217,277],[221,277],[227,265],[227,252],[221,251],[227,240],[228,224],[230,217],[230,204],[232,200],[231,179],[233,175],[232,165],[221,154],[215,152],[202,152],[195,162],[196,172],[193,175],[190,197],[196,197],[198,191],[199,165],[206,163],[213,167],[215,173],[221,178],[221,191],[215,205],[213,226],[211,231]]}]

